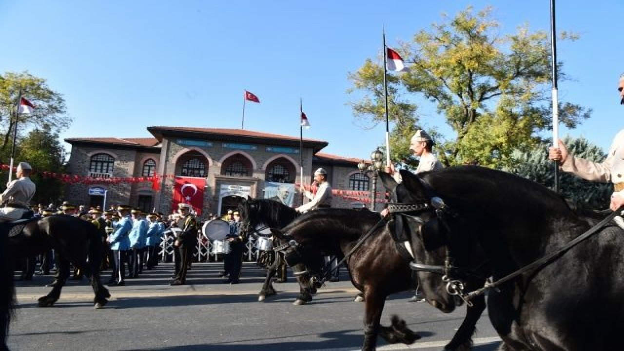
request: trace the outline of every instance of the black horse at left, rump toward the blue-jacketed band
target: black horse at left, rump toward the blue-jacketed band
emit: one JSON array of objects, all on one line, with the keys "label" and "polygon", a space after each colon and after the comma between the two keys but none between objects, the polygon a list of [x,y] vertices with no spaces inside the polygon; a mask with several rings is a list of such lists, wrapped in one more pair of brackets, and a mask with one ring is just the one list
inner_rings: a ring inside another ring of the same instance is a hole
[{"label": "black horse at left, rump toward the blue-jacketed band", "polygon": [[94,307],[99,309],[107,304],[109,290],[100,282],[104,243],[89,221],[70,215],[52,215],[31,220],[15,235],[9,234],[7,242],[11,262],[41,254],[49,249],[56,252],[58,266],[53,287],[49,294],[39,298],[39,307],[50,307],[59,299],[61,289],[70,274],[70,264],[74,264],[90,279],[95,294]]}]

